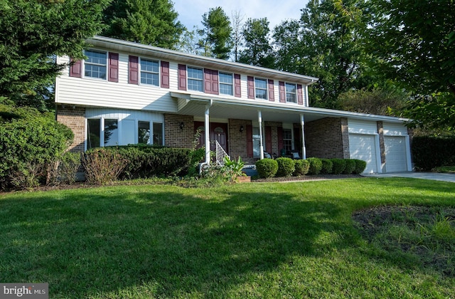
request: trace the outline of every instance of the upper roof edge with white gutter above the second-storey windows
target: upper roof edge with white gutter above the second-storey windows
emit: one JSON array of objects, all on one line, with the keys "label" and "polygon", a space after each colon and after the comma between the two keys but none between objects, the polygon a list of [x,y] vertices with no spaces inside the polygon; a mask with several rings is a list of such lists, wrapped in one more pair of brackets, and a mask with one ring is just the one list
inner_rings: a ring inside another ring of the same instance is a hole
[{"label": "upper roof edge with white gutter above the second-storey windows", "polygon": [[149,45],[144,45],[144,44],[141,44],[141,43],[134,43],[132,41],[122,41],[122,40],[119,40],[117,38],[108,38],[108,37],[105,37],[105,36],[93,36],[92,38],[87,39],[87,42],[88,43],[94,43],[94,42],[95,43],[96,42],[113,43],[113,44],[117,44],[119,46],[127,46],[127,47],[132,47],[132,48],[141,48],[141,49],[144,49],[146,51],[152,51],[152,52],[155,52],[155,53],[161,53],[161,54],[163,54],[165,56],[173,57],[173,58],[176,59],[176,61],[178,61],[178,58],[184,57],[184,58],[187,58],[187,59],[189,59],[191,61],[195,61],[195,62],[203,62],[203,63],[210,62],[210,63],[215,63],[215,64],[221,65],[221,66],[228,66],[228,67],[231,67],[231,68],[241,68],[242,70],[247,70],[247,71],[250,70],[250,71],[253,71],[253,72],[269,73],[269,74],[278,75],[278,76],[292,77],[292,78],[295,78],[297,80],[306,81],[305,85],[314,84],[314,83],[316,83],[319,80],[319,78],[311,77],[311,76],[307,76],[307,75],[289,73],[289,72],[285,72],[285,71],[282,71],[282,70],[274,70],[272,68],[263,68],[261,66],[248,65],[248,64],[245,64],[245,63],[237,63],[237,62],[232,62],[232,61],[225,61],[225,60],[219,59],[219,58],[198,56],[198,55],[195,55],[195,54],[183,53],[183,52],[180,52],[180,51],[170,50],[170,49],[166,49],[166,48],[159,48],[159,47],[156,47],[156,46],[149,46]]}]

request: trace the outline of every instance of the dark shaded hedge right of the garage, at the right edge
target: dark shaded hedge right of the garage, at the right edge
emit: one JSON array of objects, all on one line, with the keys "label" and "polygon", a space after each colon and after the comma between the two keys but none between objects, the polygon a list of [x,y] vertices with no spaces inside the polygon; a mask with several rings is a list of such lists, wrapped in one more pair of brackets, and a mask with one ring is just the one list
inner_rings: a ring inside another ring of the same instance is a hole
[{"label": "dark shaded hedge right of the garage, at the right edge", "polygon": [[455,137],[414,137],[412,161],[417,169],[455,165]]}]

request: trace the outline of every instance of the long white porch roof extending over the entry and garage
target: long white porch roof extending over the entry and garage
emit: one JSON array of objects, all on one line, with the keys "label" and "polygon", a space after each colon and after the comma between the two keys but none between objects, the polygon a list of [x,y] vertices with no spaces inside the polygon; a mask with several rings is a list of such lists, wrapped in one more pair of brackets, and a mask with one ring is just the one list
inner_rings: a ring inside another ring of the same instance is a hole
[{"label": "long white porch roof extending over the entry and garage", "polygon": [[267,122],[300,122],[304,115],[305,122],[319,120],[325,117],[347,117],[357,120],[373,120],[382,122],[406,122],[409,119],[384,115],[372,115],[343,110],[331,110],[318,107],[304,107],[287,103],[269,102],[267,100],[245,100],[210,97],[192,93],[171,92],[171,97],[177,100],[178,114],[203,117],[205,107],[210,105],[210,118],[236,120],[257,120],[257,111],[261,111],[262,120]]}]

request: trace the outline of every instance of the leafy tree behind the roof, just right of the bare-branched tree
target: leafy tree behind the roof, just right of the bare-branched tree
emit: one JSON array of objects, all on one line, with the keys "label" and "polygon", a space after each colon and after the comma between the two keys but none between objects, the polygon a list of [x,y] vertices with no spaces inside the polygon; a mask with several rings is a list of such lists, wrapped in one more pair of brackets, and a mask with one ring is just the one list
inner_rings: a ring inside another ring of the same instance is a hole
[{"label": "leafy tree behind the roof, just right of the bare-branched tree", "polygon": [[269,43],[269,33],[267,18],[248,19],[242,30],[245,49],[240,51],[239,61],[250,65],[273,68],[274,58],[272,46]]}]

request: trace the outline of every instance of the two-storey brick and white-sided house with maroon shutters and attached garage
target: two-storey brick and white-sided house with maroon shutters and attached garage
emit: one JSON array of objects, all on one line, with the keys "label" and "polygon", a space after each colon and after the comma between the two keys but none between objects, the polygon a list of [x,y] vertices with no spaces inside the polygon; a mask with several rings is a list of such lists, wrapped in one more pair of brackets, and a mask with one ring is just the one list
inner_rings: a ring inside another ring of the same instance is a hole
[{"label": "two-storey brick and white-sided house with maroon shutters and attached garage", "polygon": [[[254,164],[270,154],[353,158],[365,172],[411,171],[410,135],[397,117],[309,105],[318,79],[95,36],[85,61],[55,83],[57,120],[73,151],[146,143],[199,145]],[[58,57],[58,63],[70,62]]]}]

